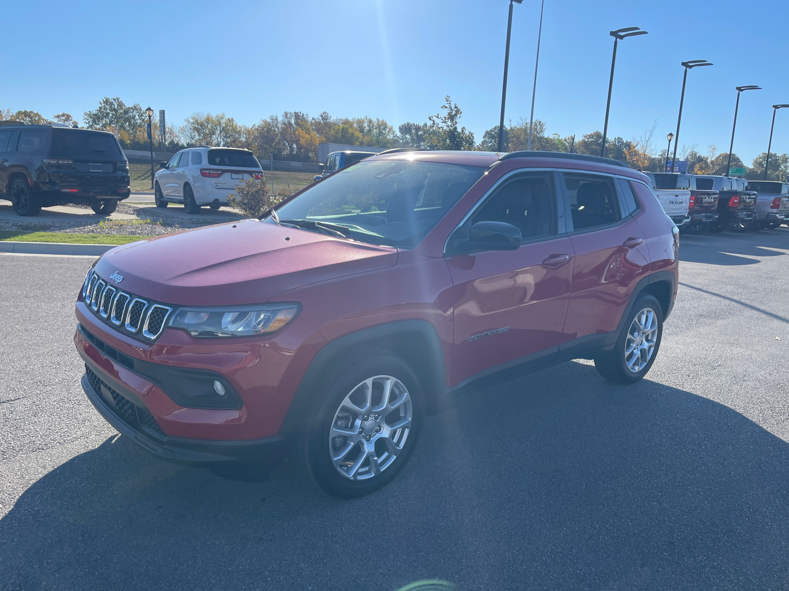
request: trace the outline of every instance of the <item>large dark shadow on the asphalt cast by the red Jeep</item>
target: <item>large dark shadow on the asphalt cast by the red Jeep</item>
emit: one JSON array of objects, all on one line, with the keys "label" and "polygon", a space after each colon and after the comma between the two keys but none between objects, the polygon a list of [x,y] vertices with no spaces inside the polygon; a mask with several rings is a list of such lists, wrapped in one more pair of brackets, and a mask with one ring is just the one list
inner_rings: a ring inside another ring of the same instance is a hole
[{"label": "large dark shadow on the asphalt cast by the red Jeep", "polygon": [[720,403],[568,362],[428,418],[387,488],[341,501],[121,437],[0,520],[0,588],[778,589],[789,445]]}]

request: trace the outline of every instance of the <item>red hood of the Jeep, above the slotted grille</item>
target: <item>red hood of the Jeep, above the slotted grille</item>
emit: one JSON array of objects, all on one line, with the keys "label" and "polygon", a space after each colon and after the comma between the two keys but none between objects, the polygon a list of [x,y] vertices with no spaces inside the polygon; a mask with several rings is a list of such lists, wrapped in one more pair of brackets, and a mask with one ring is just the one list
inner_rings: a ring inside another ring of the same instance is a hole
[{"label": "red hood of the Jeep, above the slotted grille", "polygon": [[[392,247],[258,221],[187,230],[108,251],[95,270],[118,289],[180,305],[260,303],[291,289],[397,262]],[[110,281],[116,286],[116,281]]]}]

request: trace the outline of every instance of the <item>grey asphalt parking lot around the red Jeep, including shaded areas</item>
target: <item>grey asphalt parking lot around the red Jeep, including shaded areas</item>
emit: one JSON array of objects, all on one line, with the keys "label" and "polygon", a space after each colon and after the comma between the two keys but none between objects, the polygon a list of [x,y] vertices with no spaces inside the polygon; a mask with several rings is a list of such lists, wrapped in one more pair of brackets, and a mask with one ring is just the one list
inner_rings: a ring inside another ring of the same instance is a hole
[{"label": "grey asphalt parking lot around the red Jeep, including shaded areas", "polygon": [[0,589],[789,589],[789,229],[683,236],[647,379],[567,362],[340,501],[161,463],[80,388],[91,258],[0,255]]}]

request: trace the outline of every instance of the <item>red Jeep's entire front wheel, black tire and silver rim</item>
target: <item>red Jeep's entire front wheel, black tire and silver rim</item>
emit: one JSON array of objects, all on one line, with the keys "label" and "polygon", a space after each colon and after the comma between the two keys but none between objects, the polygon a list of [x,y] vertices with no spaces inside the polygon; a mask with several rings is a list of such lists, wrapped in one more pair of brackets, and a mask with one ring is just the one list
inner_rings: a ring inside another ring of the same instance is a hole
[{"label": "red Jeep's entire front wheel, black tire and silver rim", "polygon": [[[387,403],[390,410],[381,412]],[[387,485],[406,465],[423,418],[424,399],[413,371],[396,355],[374,353],[347,364],[320,392],[301,431],[297,460],[331,496],[364,496]],[[335,427],[346,431],[337,433]]]}]

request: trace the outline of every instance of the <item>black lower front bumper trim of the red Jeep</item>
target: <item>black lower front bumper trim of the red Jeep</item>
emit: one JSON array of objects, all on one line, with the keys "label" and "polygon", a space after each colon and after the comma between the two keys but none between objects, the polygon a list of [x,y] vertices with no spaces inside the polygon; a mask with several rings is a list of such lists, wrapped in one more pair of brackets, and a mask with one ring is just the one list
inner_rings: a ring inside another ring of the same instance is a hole
[{"label": "black lower front bumper trim of the red Jeep", "polygon": [[[99,414],[119,433],[129,437],[146,452],[166,462],[189,466],[215,466],[236,462],[270,464],[279,461],[286,450],[286,440],[279,436],[258,440],[218,441],[164,435],[155,427],[155,423],[151,426],[146,421],[144,413],[148,413],[148,410],[139,398],[103,373],[99,366],[88,359],[85,359],[85,367],[95,375],[93,381],[99,383],[99,388],[102,390],[96,392],[91,380],[88,379],[87,372],[82,376],[81,383],[85,396],[88,396],[88,400]],[[115,400],[118,402],[116,403]],[[136,408],[125,412],[119,410],[123,407],[128,408],[129,405]],[[135,413],[137,420],[133,418]],[[122,418],[121,414],[124,414],[125,418]]]}]

